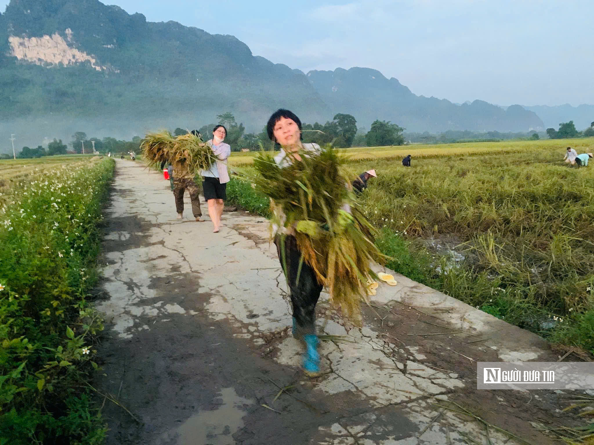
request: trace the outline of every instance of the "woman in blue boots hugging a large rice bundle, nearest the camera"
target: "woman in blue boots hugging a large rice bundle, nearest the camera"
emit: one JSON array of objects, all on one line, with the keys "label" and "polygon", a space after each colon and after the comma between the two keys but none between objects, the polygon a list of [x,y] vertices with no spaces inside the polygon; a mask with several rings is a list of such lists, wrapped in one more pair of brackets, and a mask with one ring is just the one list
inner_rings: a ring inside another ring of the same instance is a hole
[{"label": "woman in blue boots hugging a large rice bundle, nearest the camera", "polygon": [[257,185],[271,198],[272,231],[290,288],[293,337],[304,341],[305,373],[320,373],[315,306],[324,286],[333,303],[359,322],[369,264],[380,260],[373,229],[352,206],[349,179],[333,149],[301,142],[301,120],[277,110],[267,123],[268,137],[281,145],[274,160],[254,161]]}]

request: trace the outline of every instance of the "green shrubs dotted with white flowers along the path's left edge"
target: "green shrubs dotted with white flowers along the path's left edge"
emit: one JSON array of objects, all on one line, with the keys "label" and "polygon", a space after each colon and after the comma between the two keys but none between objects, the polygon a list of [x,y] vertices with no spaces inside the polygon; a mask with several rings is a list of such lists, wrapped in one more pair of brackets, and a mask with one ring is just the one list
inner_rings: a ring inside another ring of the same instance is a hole
[{"label": "green shrubs dotted with white flowers along the path's left edge", "polygon": [[[22,164],[22,163],[21,163]],[[88,381],[109,158],[34,163],[0,195],[0,444],[101,444]]]}]

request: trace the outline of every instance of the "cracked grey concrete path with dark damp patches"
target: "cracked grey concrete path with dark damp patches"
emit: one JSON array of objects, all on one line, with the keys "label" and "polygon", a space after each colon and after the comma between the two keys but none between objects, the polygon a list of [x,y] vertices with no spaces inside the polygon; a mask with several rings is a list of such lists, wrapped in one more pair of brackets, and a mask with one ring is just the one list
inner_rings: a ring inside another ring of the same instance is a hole
[{"label": "cracked grey concrete path with dark damp patches", "polygon": [[225,213],[213,234],[187,196],[184,215],[160,174],[117,161],[97,385],[128,411],[103,401],[109,444],[522,443],[485,422],[553,443],[530,421],[564,421],[560,395],[476,390],[476,361],[557,360],[538,336],[396,275],[362,329],[323,294],[324,375],[308,379],[267,221]]}]

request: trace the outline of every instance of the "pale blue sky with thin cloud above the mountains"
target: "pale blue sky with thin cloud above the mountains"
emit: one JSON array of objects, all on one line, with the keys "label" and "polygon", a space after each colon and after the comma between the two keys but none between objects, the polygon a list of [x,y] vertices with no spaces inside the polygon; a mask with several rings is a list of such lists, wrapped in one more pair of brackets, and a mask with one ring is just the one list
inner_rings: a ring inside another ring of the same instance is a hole
[{"label": "pale blue sky with thin cloud above the mountains", "polygon": [[106,3],[232,34],[254,55],[304,72],[365,66],[459,103],[594,104],[592,0]]}]

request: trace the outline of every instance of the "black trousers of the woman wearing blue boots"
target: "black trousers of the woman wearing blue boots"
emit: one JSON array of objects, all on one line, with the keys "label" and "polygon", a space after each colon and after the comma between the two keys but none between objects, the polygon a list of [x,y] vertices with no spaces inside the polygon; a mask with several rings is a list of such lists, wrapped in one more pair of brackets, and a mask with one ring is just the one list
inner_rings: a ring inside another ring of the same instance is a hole
[{"label": "black trousers of the woman wearing blue boots", "polygon": [[274,244],[289,283],[295,318],[295,337],[303,338],[305,335],[315,334],[315,305],[318,303],[323,285],[318,283],[314,269],[305,261],[301,262],[301,252],[297,248],[297,240],[294,236],[285,236],[284,246],[277,236]]}]

